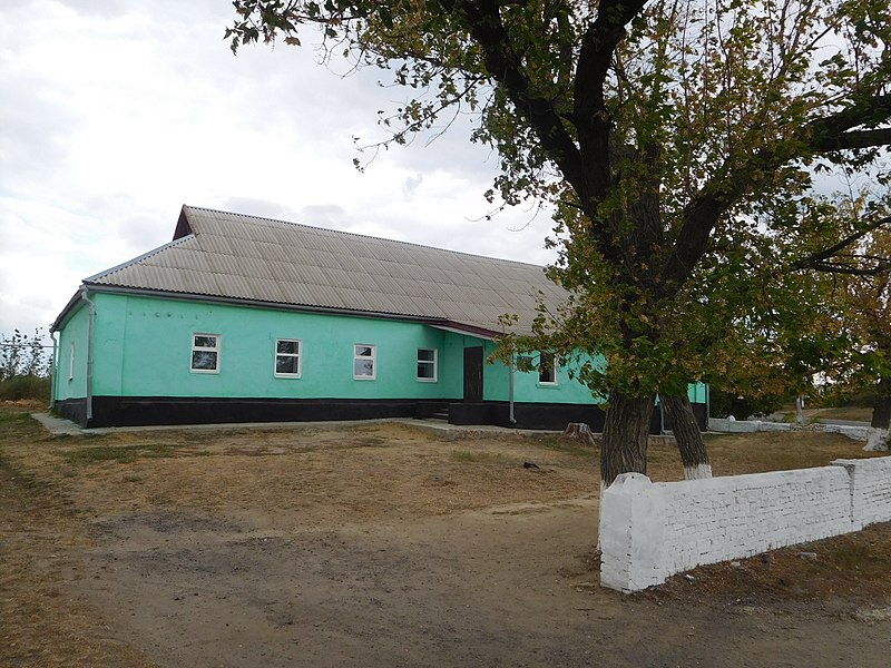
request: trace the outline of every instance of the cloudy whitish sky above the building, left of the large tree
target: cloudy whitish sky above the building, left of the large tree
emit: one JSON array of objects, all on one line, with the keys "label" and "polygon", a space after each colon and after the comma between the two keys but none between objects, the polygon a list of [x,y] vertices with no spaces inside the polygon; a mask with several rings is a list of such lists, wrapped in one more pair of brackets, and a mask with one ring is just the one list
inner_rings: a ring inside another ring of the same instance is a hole
[{"label": "cloudy whitish sky above the building, left of the large tree", "polygon": [[[404,99],[312,48],[223,40],[228,0],[0,0],[0,333],[173,237],[183,204],[546,264],[547,215],[487,222],[497,160],[467,124],[360,174]],[[304,45],[312,40],[304,39]]]}]

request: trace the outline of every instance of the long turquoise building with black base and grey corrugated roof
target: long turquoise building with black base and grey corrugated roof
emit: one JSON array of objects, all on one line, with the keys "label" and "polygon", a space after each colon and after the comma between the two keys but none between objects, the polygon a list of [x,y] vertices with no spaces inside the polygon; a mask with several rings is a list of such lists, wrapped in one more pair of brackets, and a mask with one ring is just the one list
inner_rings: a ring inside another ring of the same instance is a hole
[{"label": "long turquoise building with black base and grey corrugated roof", "polygon": [[[184,206],[174,239],[84,281],[53,405],[82,426],[448,419],[562,429],[603,413],[550,355],[488,363],[566,293],[541,267]],[[705,387],[691,386],[704,420]],[[658,425],[655,425],[656,428]]]}]

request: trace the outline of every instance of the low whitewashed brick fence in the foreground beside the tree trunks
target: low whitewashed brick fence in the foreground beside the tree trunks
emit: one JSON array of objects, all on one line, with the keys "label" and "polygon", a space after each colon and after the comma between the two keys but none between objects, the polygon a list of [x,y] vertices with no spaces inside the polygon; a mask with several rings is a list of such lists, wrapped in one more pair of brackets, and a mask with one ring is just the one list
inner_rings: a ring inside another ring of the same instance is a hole
[{"label": "low whitewashed brick fence in the foreground beside the tree trunks", "polygon": [[600,583],[637,591],[741,559],[891,521],[891,458],[653,483],[625,473],[600,499]]}]

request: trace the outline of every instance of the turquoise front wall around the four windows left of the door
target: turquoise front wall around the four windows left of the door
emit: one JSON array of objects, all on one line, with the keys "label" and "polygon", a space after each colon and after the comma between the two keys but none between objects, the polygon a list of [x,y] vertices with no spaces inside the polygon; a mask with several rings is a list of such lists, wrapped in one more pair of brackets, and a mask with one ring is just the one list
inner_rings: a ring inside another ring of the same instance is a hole
[{"label": "turquoise front wall around the four windows left of the door", "polygon": [[[459,335],[375,318],[95,294],[94,394],[460,399]],[[219,372],[190,370],[195,333],[221,337]],[[302,343],[301,377],[276,377],[275,342]],[[375,380],[353,379],[353,345],[376,346]],[[417,379],[419,347],[438,351],[435,383]]]}]

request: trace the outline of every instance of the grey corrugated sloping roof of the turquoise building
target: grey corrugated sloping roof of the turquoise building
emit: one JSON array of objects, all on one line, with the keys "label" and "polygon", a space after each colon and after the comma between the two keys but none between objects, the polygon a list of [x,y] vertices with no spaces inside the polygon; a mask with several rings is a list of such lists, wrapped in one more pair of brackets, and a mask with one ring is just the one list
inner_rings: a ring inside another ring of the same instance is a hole
[{"label": "grey corrugated sloping roof of the turquoise building", "polygon": [[[185,219],[187,227],[182,226]],[[541,267],[295,223],[184,206],[192,234],[85,281],[87,285],[404,315],[528,331],[539,291],[566,292]]]}]

